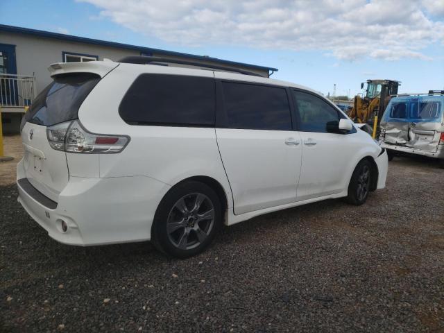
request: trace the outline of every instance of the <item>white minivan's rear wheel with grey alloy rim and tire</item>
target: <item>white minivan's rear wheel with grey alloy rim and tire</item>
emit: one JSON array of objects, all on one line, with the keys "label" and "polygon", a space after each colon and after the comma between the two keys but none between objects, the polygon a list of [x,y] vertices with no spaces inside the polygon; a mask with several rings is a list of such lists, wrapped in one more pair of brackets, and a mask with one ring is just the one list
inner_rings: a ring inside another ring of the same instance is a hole
[{"label": "white minivan's rear wheel with grey alloy rim and tire", "polygon": [[205,250],[221,224],[216,192],[201,182],[183,182],[173,187],[157,207],[151,241],[162,253],[184,259]]}]

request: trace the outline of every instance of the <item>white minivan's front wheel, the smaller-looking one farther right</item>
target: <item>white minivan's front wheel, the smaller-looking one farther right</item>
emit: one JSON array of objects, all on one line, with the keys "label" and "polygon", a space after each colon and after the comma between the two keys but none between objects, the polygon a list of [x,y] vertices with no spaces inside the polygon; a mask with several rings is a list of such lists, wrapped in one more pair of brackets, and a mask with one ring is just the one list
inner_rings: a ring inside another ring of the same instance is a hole
[{"label": "white minivan's front wheel, the smaller-looking one farther right", "polygon": [[372,167],[368,160],[361,160],[353,171],[346,201],[352,205],[362,205],[368,198],[372,177]]}]

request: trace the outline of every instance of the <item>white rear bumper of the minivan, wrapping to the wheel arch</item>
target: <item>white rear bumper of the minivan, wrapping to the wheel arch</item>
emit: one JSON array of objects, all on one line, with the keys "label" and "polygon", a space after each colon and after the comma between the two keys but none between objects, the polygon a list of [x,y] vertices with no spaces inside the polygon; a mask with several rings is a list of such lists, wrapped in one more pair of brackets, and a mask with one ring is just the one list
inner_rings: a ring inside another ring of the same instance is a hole
[{"label": "white rear bumper of the minivan, wrapping to the wheel arch", "polygon": [[[71,177],[55,208],[24,186],[17,164],[19,203],[49,236],[63,244],[89,246],[146,241],[157,205],[170,188],[148,177]],[[63,232],[61,221],[67,223]]]}]

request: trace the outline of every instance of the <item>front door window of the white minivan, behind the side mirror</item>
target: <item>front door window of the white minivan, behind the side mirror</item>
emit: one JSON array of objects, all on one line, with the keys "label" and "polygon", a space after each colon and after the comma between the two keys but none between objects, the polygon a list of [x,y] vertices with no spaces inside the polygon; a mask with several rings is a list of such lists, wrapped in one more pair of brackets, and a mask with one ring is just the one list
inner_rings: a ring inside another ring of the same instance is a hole
[{"label": "front door window of the white minivan, behind the side mirror", "polygon": [[327,133],[329,121],[339,121],[338,111],[319,97],[293,90],[299,114],[299,130]]}]

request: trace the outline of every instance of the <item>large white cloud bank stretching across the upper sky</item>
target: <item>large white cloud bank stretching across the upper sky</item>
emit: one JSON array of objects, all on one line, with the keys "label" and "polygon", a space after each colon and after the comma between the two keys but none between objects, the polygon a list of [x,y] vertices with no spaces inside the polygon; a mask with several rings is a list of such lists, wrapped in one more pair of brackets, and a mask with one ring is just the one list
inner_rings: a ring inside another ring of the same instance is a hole
[{"label": "large white cloud bank stretching across the upper sky", "polygon": [[444,0],[79,0],[101,17],[182,45],[316,50],[341,59],[430,59]]}]

